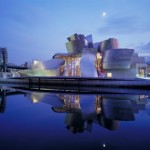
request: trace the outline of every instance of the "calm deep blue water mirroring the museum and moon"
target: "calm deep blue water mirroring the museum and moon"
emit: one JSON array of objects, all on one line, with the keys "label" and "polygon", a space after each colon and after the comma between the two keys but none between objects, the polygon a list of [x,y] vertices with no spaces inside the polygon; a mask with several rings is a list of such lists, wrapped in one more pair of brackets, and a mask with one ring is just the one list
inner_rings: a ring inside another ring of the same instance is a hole
[{"label": "calm deep blue water mirroring the museum and moon", "polygon": [[0,150],[149,150],[150,99],[1,91]]}]

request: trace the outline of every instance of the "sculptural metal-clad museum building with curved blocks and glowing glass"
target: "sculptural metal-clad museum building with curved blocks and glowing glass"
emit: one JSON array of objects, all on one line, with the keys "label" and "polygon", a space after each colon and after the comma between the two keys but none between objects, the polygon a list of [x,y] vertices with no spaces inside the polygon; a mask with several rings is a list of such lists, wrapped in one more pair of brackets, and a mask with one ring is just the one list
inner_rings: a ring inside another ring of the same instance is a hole
[{"label": "sculptural metal-clad museum building with curved blocks and glowing glass", "polygon": [[34,60],[21,76],[68,76],[99,78],[146,77],[145,58],[134,49],[120,48],[115,38],[93,43],[92,35],[67,38],[67,53],[56,53],[47,61]]}]

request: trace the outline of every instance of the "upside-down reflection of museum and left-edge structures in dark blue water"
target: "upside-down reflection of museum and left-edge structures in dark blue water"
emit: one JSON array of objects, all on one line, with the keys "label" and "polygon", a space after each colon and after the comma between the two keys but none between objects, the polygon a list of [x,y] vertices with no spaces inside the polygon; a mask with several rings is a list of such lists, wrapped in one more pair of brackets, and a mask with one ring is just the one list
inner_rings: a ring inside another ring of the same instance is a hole
[{"label": "upside-down reflection of museum and left-edge structures in dark blue water", "polygon": [[[5,112],[6,97],[20,94],[16,91],[0,92],[0,112]],[[28,92],[22,93],[32,103],[43,102],[56,113],[66,113],[66,128],[73,133],[92,131],[98,124],[109,130],[119,128],[120,121],[134,121],[135,114],[144,110],[148,103],[147,95],[128,94],[62,94]]]}]

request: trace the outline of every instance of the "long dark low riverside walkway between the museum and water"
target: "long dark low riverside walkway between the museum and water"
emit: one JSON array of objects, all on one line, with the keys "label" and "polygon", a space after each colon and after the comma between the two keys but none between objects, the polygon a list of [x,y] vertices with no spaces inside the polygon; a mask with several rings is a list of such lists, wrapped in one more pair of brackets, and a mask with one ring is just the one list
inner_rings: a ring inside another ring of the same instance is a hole
[{"label": "long dark low riverside walkway between the museum and water", "polygon": [[48,86],[77,86],[77,87],[134,87],[150,88],[149,79],[113,79],[113,78],[94,78],[94,77],[13,77],[0,79],[0,84],[20,84]]}]

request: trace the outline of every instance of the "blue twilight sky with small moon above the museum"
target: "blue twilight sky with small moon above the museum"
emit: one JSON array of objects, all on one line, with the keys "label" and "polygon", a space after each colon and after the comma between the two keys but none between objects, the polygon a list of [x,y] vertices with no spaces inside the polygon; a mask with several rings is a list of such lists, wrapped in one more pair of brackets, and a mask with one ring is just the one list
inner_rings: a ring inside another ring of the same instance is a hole
[{"label": "blue twilight sky with small moon above the museum", "polygon": [[48,60],[67,52],[67,37],[117,38],[150,56],[150,0],[0,0],[0,47],[9,62]]}]

